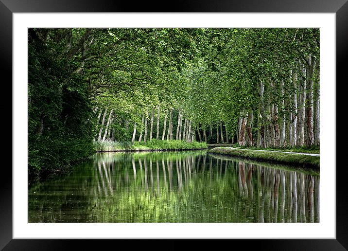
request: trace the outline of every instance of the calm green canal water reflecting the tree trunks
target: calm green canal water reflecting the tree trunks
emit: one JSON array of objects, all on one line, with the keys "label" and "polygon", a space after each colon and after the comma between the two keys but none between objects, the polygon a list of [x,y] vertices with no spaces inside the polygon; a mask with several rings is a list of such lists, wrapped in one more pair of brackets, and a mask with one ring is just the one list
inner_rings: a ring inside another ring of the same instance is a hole
[{"label": "calm green canal water reflecting the tree trunks", "polygon": [[29,222],[318,222],[319,173],[206,150],[100,153],[29,187]]}]

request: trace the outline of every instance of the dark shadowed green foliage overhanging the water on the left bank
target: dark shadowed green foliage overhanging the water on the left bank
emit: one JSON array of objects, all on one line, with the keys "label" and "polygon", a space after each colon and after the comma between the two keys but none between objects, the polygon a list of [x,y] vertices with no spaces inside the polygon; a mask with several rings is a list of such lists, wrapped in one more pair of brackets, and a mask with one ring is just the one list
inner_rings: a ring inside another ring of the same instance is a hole
[{"label": "dark shadowed green foliage overhanging the water on the left bank", "polygon": [[29,175],[67,170],[93,151],[91,102],[70,65],[29,32]]}]

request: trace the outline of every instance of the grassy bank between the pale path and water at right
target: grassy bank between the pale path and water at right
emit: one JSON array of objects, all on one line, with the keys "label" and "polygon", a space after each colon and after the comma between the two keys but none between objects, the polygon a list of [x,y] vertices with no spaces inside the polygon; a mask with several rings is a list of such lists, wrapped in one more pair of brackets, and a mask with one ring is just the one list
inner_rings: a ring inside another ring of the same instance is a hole
[{"label": "grassy bank between the pale path and water at right", "polygon": [[279,152],[261,152],[249,149],[231,149],[228,147],[216,147],[209,151],[209,153],[222,154],[233,157],[242,157],[250,160],[270,161],[281,164],[291,164],[302,166],[305,168],[319,169],[320,158],[317,156],[309,156],[302,154],[290,154]]}]

